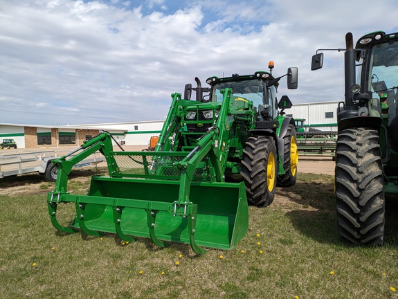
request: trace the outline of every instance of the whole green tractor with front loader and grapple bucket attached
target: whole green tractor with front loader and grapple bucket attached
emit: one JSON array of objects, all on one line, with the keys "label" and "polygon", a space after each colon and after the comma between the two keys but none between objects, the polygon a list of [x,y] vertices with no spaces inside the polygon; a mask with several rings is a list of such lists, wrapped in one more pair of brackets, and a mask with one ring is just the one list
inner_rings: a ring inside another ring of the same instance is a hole
[{"label": "whole green tractor with front loader and grapple bucket attached", "polygon": [[[297,69],[274,78],[270,71],[228,78],[209,78],[210,87],[186,84],[184,96],[172,94],[172,104],[153,152],[114,151],[108,132],[83,143],[53,161],[55,190],[48,211],[55,228],[87,235],[116,233],[132,242],[148,237],[157,246],[168,242],[230,249],[248,230],[248,201],[267,206],[275,185],[296,181],[296,130],[284,117],[291,106],[276,102],[280,78],[297,88]],[[196,100],[190,100],[192,91]],[[109,176],[93,176],[87,195],[69,194],[73,165],[100,150]],[[77,153],[77,154],[76,154]],[[72,156],[72,154],[75,154]],[[237,176],[243,179],[238,179]],[[74,203],[69,226],[57,220],[61,202]]]}]

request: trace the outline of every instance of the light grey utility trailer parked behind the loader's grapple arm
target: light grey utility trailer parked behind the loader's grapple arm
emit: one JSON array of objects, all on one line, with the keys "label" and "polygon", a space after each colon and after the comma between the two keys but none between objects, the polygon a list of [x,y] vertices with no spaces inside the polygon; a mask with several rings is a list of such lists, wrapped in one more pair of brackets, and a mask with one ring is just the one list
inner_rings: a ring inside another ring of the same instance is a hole
[{"label": "light grey utility trailer parked behind the loader's grapple arm", "polygon": [[[6,176],[39,172],[47,181],[57,181],[57,167],[51,161],[57,157],[55,151],[27,152],[0,156],[0,179]],[[85,158],[73,168],[97,165],[105,161],[105,156],[99,152]]]}]

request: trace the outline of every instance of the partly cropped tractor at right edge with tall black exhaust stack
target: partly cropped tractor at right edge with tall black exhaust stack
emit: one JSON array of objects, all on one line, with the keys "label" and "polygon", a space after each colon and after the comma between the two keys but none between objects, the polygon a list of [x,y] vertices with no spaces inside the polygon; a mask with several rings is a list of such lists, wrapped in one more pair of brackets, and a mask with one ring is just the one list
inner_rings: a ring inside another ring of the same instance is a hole
[{"label": "partly cropped tractor at right edge with tall black exhaust stack", "polygon": [[[398,33],[369,33],[355,48],[347,33],[345,43],[345,102],[338,108],[336,145],[338,231],[354,244],[383,244],[384,194],[398,194]],[[322,65],[317,51],[311,69]]]}]

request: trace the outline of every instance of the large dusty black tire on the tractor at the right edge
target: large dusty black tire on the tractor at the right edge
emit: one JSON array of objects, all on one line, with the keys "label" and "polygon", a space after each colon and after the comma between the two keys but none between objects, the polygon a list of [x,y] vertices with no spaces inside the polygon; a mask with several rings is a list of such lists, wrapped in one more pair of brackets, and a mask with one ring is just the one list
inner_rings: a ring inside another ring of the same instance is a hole
[{"label": "large dusty black tire on the tractor at the right edge", "polygon": [[383,244],[383,164],[376,130],[355,128],[338,133],[335,188],[341,237],[354,244]]}]

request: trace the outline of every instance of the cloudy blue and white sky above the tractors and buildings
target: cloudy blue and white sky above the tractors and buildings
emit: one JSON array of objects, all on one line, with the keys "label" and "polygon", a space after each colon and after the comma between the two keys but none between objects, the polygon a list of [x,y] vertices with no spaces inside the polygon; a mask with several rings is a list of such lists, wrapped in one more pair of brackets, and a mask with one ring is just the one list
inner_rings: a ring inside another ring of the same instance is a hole
[{"label": "cloudy blue and white sky above the tractors and buildings", "polygon": [[344,36],[398,31],[398,1],[0,0],[0,123],[161,120],[171,93],[199,77],[289,66],[279,97],[343,100]]}]

